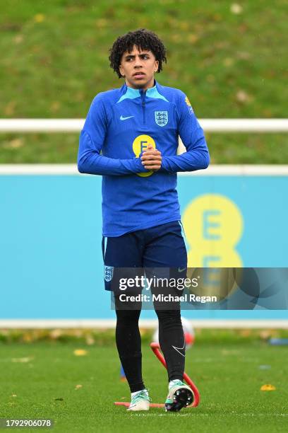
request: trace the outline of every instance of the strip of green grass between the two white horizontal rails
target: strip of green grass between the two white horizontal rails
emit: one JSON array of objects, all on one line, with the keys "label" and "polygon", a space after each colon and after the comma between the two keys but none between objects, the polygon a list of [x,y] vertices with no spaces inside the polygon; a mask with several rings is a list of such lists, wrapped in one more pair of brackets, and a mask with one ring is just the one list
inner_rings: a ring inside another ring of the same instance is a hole
[{"label": "strip of green grass between the two white horizontal rails", "polygon": [[[213,164],[288,163],[287,134],[206,134]],[[78,134],[1,134],[0,163],[76,163]]]}]

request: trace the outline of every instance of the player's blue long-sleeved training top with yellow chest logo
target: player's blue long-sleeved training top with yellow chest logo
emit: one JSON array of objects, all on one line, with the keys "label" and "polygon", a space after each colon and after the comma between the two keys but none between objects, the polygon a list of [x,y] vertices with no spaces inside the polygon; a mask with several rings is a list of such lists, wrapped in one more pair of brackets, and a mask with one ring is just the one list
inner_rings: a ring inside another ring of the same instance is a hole
[{"label": "player's blue long-sleeved training top with yellow chest logo", "polygon": [[[186,152],[176,155],[179,136]],[[140,156],[161,151],[159,171]],[[102,175],[103,236],[121,236],[180,219],[177,171],[207,168],[203,129],[185,94],[171,87],[126,86],[99,93],[80,133],[78,170]]]}]

